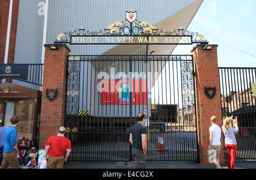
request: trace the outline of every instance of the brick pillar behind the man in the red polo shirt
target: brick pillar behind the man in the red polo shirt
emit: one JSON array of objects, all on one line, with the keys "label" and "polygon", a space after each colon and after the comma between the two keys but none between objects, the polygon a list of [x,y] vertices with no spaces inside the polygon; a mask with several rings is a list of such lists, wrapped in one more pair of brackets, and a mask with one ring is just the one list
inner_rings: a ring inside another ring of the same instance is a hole
[{"label": "brick pillar behind the man in the red polo shirt", "polygon": [[[40,119],[39,149],[50,136],[56,135],[57,129],[64,126],[67,56],[70,49],[67,45],[58,45],[57,50],[46,47],[44,58],[43,91]],[[57,89],[57,97],[49,101],[47,89]]]}]

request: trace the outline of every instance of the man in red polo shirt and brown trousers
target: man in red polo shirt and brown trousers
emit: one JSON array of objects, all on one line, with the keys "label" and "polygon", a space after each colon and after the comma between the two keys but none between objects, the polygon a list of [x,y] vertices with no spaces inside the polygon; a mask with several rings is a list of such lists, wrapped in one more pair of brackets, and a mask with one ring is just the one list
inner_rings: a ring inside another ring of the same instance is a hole
[{"label": "man in red polo shirt and brown trousers", "polygon": [[[47,169],[62,169],[71,152],[71,141],[64,136],[65,128],[58,129],[58,135],[51,136],[46,141],[46,149],[43,160],[48,154]],[[65,153],[67,151],[67,153]]]}]

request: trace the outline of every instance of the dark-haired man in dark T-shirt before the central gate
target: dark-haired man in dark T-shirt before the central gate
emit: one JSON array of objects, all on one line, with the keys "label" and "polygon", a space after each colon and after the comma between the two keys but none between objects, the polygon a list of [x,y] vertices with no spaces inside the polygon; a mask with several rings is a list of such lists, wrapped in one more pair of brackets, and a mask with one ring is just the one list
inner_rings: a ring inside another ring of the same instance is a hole
[{"label": "dark-haired man in dark T-shirt before the central gate", "polygon": [[133,125],[130,133],[130,143],[133,145],[133,158],[135,169],[146,168],[147,153],[147,128],[144,125],[146,118],[144,114],[137,116],[138,122]]}]

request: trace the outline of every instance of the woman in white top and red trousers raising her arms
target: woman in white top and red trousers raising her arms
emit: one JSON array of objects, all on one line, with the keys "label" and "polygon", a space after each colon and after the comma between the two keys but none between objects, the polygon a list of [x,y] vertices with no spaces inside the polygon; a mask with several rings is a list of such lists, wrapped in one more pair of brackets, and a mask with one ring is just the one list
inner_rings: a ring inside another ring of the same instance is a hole
[{"label": "woman in white top and red trousers raising her arms", "polygon": [[[234,123],[234,128],[232,127],[232,121]],[[237,125],[237,118],[226,118],[224,120],[222,131],[225,135],[225,148],[228,152],[228,168],[234,169],[234,163],[236,160],[236,152],[237,152],[237,141],[234,132],[237,132],[238,125]]]}]

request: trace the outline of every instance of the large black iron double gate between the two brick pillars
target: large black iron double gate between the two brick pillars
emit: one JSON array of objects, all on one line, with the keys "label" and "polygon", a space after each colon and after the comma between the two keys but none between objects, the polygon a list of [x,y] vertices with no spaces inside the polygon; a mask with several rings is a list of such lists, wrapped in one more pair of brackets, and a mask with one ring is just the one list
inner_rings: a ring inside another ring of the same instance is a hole
[{"label": "large black iron double gate between the two brick pillars", "polygon": [[191,55],[68,56],[70,161],[131,161],[129,135],[147,115],[147,160],[197,160]]}]

